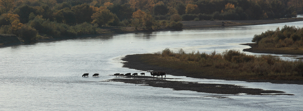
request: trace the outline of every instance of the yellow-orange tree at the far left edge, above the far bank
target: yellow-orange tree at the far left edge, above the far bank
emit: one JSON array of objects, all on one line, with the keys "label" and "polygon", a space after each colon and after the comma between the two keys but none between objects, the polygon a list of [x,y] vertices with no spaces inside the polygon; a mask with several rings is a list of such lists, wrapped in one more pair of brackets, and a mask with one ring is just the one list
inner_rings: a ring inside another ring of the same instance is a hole
[{"label": "yellow-orange tree at the far left edge, above the far bank", "polygon": [[18,29],[21,29],[23,24],[20,23],[19,15],[18,14],[12,14],[12,13],[6,13],[2,14],[6,21],[9,21],[11,23],[11,29],[13,33],[16,33]]}]

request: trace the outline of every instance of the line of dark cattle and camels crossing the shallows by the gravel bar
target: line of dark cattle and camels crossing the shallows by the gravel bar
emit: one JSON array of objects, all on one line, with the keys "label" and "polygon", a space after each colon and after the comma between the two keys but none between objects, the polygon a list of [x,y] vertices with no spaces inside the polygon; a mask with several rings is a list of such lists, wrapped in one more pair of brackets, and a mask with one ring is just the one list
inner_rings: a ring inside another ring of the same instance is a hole
[{"label": "line of dark cattle and camels crossing the shallows by the gravel bar", "polygon": [[[160,76],[161,76],[161,78],[163,78],[163,76],[165,76],[165,78],[166,78],[166,73],[165,72],[150,72],[151,73],[151,76],[153,76],[153,77],[155,77],[155,76],[157,76],[158,78],[160,78]],[[145,76],[145,73],[140,73],[141,74],[141,76]],[[83,75],[82,75],[82,77],[88,77],[88,73],[84,73]],[[96,77],[96,76],[98,76],[99,77],[99,74],[98,73],[95,73],[94,75],[93,75],[93,77]],[[126,74],[120,74],[120,73],[115,73],[114,74],[114,76],[138,76],[138,73],[126,73]]]}]

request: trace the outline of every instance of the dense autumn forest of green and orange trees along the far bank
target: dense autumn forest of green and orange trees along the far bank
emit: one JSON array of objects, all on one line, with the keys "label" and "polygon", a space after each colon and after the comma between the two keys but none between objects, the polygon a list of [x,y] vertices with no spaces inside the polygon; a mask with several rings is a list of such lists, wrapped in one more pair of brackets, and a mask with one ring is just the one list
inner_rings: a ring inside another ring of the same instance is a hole
[{"label": "dense autumn forest of green and orange trees along the far bank", "polygon": [[105,26],[181,29],[181,20],[260,20],[303,13],[299,0],[0,0],[0,34],[102,33]]}]

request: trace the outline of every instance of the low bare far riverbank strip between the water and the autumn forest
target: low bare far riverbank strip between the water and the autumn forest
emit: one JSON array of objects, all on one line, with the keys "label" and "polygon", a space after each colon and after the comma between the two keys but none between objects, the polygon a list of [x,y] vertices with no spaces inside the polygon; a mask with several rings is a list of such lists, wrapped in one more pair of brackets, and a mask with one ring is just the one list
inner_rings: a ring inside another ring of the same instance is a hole
[{"label": "low bare far riverbank strip between the water and the autumn forest", "polygon": [[[288,23],[288,22],[297,22],[303,21],[303,18],[285,18],[285,19],[275,19],[275,20],[214,20],[214,21],[181,21],[183,23],[183,29],[195,29],[195,28],[218,28],[218,27],[232,27],[232,26],[250,26],[250,25],[261,25],[261,24],[272,24],[272,23]],[[222,26],[224,24],[224,26]],[[74,38],[85,38],[92,36],[100,36],[100,35],[112,35],[112,34],[125,34],[125,33],[138,33],[138,32],[154,32],[154,31],[168,31],[174,29],[166,29],[160,28],[156,30],[146,30],[146,29],[135,29],[135,27],[104,27],[102,29],[102,33],[96,35],[82,35],[75,37],[63,37],[56,38],[52,36],[42,37],[42,39],[37,39],[34,42],[49,42],[49,41],[57,41],[64,39],[74,39]],[[2,34],[5,35],[5,34]],[[2,43],[2,44],[1,44]],[[0,48],[8,47],[12,45],[20,45],[24,44],[22,41],[16,42],[5,42],[5,40],[0,40]]]}]

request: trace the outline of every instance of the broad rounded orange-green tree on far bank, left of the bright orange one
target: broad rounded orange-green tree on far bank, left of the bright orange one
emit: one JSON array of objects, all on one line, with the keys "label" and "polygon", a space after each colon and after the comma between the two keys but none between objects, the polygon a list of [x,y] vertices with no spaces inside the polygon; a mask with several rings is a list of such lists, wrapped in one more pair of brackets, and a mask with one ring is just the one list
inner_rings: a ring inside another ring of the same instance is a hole
[{"label": "broad rounded orange-green tree on far bank, left of the bright orange one", "polygon": [[98,25],[105,26],[108,23],[113,23],[116,18],[118,18],[115,14],[113,14],[108,9],[103,9],[94,13],[92,16],[92,23],[97,23]]}]

